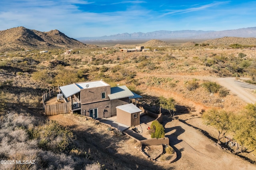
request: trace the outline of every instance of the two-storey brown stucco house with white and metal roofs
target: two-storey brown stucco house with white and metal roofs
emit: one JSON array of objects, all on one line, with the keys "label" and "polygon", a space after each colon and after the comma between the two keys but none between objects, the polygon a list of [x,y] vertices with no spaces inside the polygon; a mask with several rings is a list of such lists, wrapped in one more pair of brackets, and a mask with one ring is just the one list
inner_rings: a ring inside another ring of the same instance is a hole
[{"label": "two-storey brown stucco house with white and metal roofs", "polygon": [[[129,104],[134,95],[126,86],[110,87],[102,80],[61,86],[66,102],[72,102],[72,112],[95,119],[116,115],[116,107]],[[140,96],[141,97],[141,96]]]}]

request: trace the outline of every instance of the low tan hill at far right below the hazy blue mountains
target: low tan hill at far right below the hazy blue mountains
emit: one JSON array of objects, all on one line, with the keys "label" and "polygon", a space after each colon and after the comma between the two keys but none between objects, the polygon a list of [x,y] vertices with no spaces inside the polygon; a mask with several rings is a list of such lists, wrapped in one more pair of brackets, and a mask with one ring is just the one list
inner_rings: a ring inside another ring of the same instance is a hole
[{"label": "low tan hill at far right below the hazy blue mountains", "polygon": [[230,44],[256,45],[256,38],[223,37],[223,38],[207,40],[202,43],[209,44],[209,45],[230,45]]}]

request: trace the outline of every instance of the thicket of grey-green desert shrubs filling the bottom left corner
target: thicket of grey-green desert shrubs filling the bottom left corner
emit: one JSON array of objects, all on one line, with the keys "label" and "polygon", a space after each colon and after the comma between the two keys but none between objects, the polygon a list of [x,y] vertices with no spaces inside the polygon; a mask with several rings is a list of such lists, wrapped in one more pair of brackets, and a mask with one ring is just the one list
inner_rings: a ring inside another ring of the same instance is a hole
[{"label": "thicket of grey-green desert shrubs filling the bottom left corner", "polygon": [[[48,123],[46,124],[48,125]],[[67,156],[64,153],[38,148],[38,138],[42,135],[40,134],[42,132],[39,130],[39,127],[43,126],[43,123],[38,124],[38,119],[26,113],[17,114],[10,112],[6,115],[2,115],[0,121],[0,159],[35,160],[35,164],[2,164],[0,169],[71,170],[74,169],[75,166],[79,166],[81,162],[84,163],[84,159],[80,157],[75,157],[75,162],[74,157]],[[38,131],[38,135],[35,135],[35,137],[32,137],[34,139],[32,139],[28,133],[28,129]],[[58,133],[58,129],[59,128],[44,129],[43,133]],[[59,135],[62,137],[63,133]],[[56,138],[52,138],[51,140],[51,142],[54,142]]]}]

